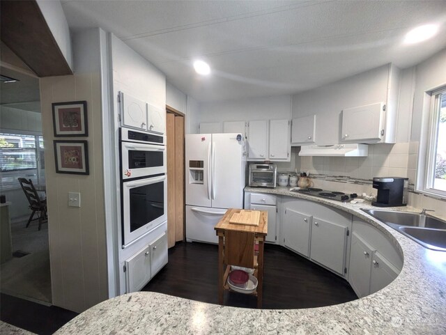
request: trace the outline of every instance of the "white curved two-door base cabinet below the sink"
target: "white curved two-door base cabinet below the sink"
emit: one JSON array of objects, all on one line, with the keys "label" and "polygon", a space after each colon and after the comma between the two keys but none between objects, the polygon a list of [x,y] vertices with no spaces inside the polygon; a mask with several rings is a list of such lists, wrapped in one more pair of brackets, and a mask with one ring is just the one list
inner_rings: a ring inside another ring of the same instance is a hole
[{"label": "white curved two-door base cabinet below the sink", "polygon": [[348,282],[356,295],[365,297],[385,288],[402,267],[401,254],[384,233],[354,218]]}]

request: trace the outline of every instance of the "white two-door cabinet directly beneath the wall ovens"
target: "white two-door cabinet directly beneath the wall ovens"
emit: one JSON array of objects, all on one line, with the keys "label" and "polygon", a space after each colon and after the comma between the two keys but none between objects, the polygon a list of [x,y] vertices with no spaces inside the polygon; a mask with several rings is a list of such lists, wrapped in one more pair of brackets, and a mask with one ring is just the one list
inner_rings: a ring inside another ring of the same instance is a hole
[{"label": "white two-door cabinet directly beneath the wall ovens", "polygon": [[167,235],[163,233],[148,246],[125,260],[126,293],[146,286],[158,271],[167,264]]}]

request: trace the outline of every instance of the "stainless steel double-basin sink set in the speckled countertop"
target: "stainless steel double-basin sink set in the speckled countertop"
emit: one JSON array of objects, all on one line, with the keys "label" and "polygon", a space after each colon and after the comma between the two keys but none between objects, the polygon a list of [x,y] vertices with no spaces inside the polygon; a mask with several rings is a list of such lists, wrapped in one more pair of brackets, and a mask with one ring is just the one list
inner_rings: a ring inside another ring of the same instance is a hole
[{"label": "stainless steel double-basin sink set in the speckled countertop", "polygon": [[446,251],[446,221],[416,212],[362,210],[423,247]]}]

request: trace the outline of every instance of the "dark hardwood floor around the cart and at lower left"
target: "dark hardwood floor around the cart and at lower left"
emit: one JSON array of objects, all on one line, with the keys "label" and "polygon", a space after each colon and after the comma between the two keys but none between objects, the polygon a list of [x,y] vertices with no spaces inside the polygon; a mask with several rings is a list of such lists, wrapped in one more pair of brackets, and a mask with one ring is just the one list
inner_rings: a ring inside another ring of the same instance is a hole
[{"label": "dark hardwood floor around the cart and at lower left", "polygon": [[[217,249],[213,244],[177,243],[169,249],[169,263],[143,290],[217,304]],[[302,309],[357,299],[344,279],[270,244],[265,248],[263,277],[264,309]],[[256,298],[225,293],[225,304],[255,308]],[[0,320],[36,334],[52,334],[76,315],[56,306],[0,296]]]}]

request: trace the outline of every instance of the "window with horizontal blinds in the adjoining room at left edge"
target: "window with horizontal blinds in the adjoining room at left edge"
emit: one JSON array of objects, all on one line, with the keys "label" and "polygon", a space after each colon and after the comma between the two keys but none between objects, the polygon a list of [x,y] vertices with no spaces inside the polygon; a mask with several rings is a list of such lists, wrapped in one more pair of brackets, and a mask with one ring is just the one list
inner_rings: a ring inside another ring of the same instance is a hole
[{"label": "window with horizontal blinds in the adjoining room at left edge", "polygon": [[1,189],[20,187],[17,178],[45,183],[43,137],[0,133]]}]

